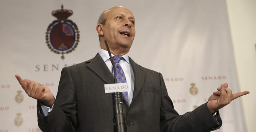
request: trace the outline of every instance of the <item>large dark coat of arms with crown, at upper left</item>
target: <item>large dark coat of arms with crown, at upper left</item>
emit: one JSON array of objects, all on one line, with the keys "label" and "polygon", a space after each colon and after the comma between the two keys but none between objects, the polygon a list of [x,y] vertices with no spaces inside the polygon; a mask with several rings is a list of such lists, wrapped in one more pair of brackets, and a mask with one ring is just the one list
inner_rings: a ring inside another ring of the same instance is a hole
[{"label": "large dark coat of arms with crown, at upper left", "polygon": [[61,59],[65,59],[64,54],[75,50],[79,42],[79,30],[77,25],[68,19],[73,11],[61,9],[53,11],[52,15],[57,18],[49,24],[46,30],[46,44],[48,48],[56,54],[62,54]]}]

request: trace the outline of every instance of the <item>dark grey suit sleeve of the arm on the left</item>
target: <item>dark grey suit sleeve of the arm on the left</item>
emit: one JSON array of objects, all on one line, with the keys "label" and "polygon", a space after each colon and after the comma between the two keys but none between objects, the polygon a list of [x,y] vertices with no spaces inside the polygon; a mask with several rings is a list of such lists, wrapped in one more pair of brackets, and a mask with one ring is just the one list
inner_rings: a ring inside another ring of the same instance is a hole
[{"label": "dark grey suit sleeve of the arm on the left", "polygon": [[77,101],[75,87],[68,68],[61,71],[59,88],[53,109],[47,116],[40,113],[37,105],[38,126],[43,132],[75,132],[77,127]]}]

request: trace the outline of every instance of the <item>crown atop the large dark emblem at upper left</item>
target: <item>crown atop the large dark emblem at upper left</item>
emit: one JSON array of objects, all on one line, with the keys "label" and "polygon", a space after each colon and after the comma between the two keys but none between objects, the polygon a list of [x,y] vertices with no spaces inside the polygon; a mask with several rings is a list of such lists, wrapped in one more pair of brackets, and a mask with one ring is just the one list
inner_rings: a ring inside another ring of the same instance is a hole
[{"label": "crown atop the large dark emblem at upper left", "polygon": [[65,21],[69,16],[73,14],[73,11],[63,9],[63,5],[61,5],[61,9],[55,10],[52,12],[52,15],[56,17],[59,21]]}]

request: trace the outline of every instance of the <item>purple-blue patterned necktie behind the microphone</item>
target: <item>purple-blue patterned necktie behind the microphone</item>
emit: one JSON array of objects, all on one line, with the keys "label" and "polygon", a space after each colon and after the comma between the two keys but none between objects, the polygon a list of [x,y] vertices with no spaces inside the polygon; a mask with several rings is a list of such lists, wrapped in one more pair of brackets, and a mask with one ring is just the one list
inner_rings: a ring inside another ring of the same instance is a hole
[{"label": "purple-blue patterned necktie behind the microphone", "polygon": [[[119,64],[120,60],[123,60],[123,57],[121,56],[113,56],[113,60],[115,63],[115,67],[117,70],[117,83],[126,83],[126,78],[125,78],[125,73],[123,72],[123,69],[121,67],[121,65]],[[112,76],[114,75],[114,68],[112,68]],[[129,105],[128,103],[128,92],[122,92],[123,93],[123,97],[125,99],[125,102],[127,103],[127,105]]]}]

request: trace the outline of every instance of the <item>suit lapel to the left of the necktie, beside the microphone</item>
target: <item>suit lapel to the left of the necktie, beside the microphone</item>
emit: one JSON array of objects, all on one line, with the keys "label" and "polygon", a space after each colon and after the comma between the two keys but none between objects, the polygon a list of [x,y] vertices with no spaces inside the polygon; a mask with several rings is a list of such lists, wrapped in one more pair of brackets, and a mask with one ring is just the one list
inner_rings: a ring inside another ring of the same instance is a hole
[{"label": "suit lapel to the left of the necktie, beside the microphone", "polygon": [[94,58],[85,62],[87,63],[86,66],[96,73],[103,81],[105,81],[105,83],[114,83],[114,78],[100,54],[97,53]]}]

